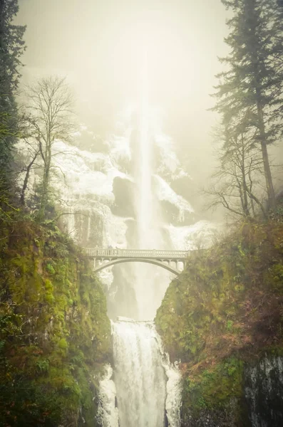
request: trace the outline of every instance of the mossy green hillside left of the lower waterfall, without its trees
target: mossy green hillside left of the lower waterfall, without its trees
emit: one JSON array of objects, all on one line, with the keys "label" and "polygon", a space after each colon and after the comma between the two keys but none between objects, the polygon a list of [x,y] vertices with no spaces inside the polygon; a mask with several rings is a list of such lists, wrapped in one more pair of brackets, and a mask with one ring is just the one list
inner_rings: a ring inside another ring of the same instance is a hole
[{"label": "mossy green hillside left of the lower waterfall, without its trees", "polygon": [[0,425],[93,426],[110,352],[101,285],[54,226],[16,221],[2,236]]}]

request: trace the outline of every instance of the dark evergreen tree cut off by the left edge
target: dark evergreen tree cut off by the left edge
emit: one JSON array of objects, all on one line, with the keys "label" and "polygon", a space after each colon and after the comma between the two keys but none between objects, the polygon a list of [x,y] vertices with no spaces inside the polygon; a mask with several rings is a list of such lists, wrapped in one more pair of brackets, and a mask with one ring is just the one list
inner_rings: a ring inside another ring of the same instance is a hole
[{"label": "dark evergreen tree cut off by the left edge", "polygon": [[16,141],[15,94],[19,86],[20,57],[25,26],[14,25],[18,0],[0,0],[0,191],[9,188],[12,149]]}]

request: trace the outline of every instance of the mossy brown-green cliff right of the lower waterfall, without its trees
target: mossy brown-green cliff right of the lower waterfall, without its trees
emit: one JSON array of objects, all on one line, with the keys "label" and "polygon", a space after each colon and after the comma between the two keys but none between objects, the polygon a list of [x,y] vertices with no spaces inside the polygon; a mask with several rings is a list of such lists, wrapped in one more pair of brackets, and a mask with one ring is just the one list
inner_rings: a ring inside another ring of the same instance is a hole
[{"label": "mossy brown-green cliff right of the lower waterfall, without its trees", "polygon": [[195,255],[155,318],[182,361],[182,426],[282,426],[282,314],[282,218]]}]

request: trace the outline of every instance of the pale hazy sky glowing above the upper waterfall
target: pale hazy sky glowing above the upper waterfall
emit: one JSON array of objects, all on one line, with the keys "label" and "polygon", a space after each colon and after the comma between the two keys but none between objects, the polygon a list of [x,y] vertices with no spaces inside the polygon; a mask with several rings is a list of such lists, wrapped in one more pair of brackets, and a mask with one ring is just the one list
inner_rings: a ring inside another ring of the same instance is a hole
[{"label": "pale hazy sky glowing above the upper waterfall", "polygon": [[[143,46],[150,100],[164,129],[192,159],[210,151],[217,56],[226,52],[220,0],[19,0],[26,23],[24,78],[62,73],[76,88],[82,121],[107,134],[135,102]],[[210,162],[209,156],[203,160]]]}]

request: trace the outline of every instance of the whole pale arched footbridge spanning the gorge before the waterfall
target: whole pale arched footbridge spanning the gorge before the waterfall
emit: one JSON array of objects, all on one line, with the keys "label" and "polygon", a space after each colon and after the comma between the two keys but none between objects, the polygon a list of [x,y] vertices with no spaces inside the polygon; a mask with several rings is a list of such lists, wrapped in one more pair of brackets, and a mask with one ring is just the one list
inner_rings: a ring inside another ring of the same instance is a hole
[{"label": "whole pale arched footbridge spanning the gorge before the waterfall", "polygon": [[[158,265],[179,275],[185,268],[190,254],[194,251],[151,251],[138,249],[84,248],[86,255],[93,259],[93,271],[98,272],[110,265],[121,263],[148,263]],[[180,268],[182,265],[182,268]]]}]

